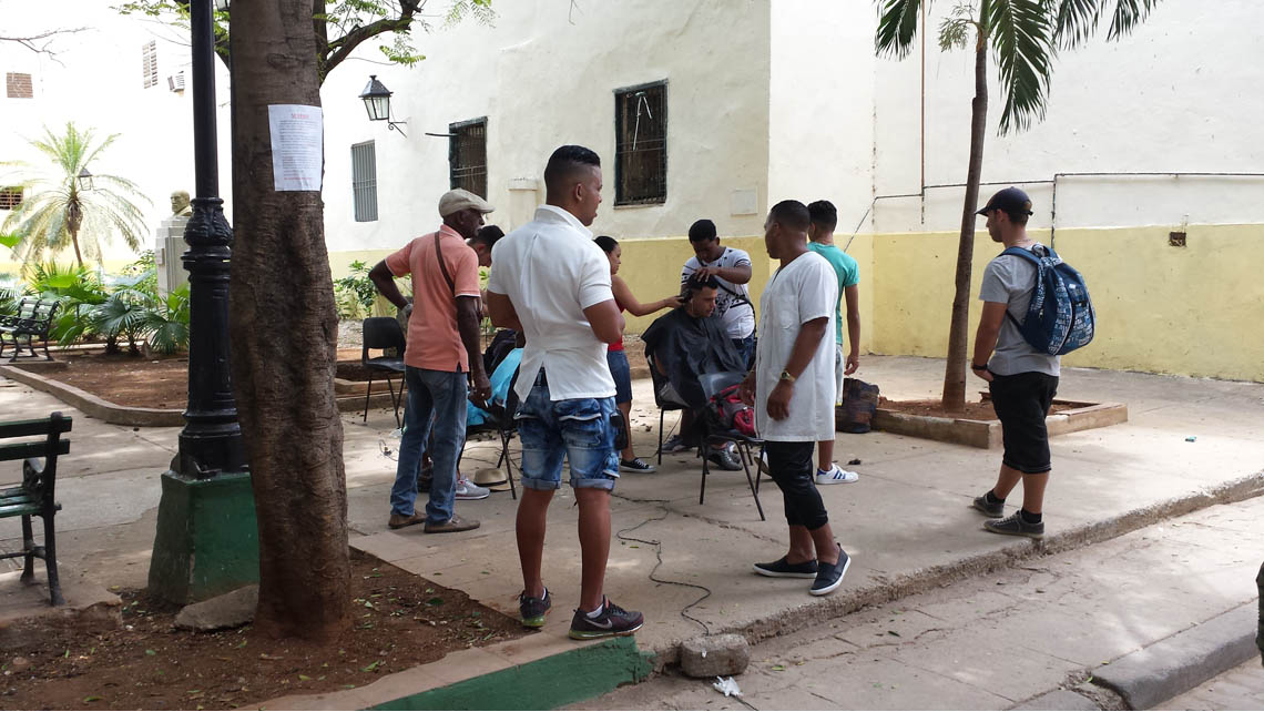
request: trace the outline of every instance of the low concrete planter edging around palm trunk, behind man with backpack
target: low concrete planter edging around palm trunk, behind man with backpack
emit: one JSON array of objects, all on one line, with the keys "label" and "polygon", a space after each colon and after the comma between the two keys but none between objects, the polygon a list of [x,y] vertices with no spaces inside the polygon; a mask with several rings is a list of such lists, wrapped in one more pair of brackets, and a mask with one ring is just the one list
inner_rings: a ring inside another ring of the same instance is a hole
[{"label": "low concrete planter edging around palm trunk, behind man with backpack", "polygon": [[[1127,422],[1127,406],[1124,403],[1091,403],[1058,398],[1053,402],[1054,405],[1071,406],[1071,408],[1044,419],[1050,436]],[[1001,421],[999,420],[934,417],[877,408],[872,425],[875,430],[939,440],[940,443],[956,443],[983,449],[1001,446]]]}]

